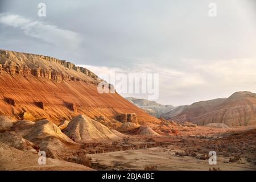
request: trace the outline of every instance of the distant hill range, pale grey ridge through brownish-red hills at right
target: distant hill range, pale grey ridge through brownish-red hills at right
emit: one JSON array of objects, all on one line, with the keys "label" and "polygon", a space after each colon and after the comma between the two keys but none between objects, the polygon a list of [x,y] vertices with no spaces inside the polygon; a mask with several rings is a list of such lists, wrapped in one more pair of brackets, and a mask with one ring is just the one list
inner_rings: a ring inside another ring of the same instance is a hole
[{"label": "distant hill range, pale grey ridge through brownish-red hills at right", "polygon": [[[126,98],[148,114],[162,116],[178,123],[192,122],[197,125],[224,123],[228,126],[256,125],[256,94],[236,92],[228,98],[195,102],[191,105],[161,105],[143,99]],[[169,111],[168,111],[169,110]]]}]

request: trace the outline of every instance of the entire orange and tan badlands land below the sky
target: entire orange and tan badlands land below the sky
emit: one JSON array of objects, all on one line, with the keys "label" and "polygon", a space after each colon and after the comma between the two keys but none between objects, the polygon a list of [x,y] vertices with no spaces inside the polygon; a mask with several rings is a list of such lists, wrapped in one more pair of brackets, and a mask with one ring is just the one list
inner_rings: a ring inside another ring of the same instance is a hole
[{"label": "entire orange and tan badlands land below the sky", "polygon": [[0,50],[0,169],[256,169],[255,93],[175,107],[100,94],[102,81],[70,61]]}]

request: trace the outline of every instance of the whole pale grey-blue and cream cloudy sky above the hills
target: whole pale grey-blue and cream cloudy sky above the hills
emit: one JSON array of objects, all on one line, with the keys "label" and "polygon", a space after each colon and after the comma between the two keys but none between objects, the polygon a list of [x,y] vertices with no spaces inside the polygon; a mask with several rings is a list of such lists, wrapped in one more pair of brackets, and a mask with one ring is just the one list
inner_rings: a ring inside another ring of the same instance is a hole
[{"label": "whole pale grey-blue and cream cloudy sky above the hills", "polygon": [[[46,17],[38,16],[40,2]],[[212,2],[216,17],[208,15]],[[96,74],[159,73],[161,104],[256,93],[256,1],[1,0],[0,48]]]}]

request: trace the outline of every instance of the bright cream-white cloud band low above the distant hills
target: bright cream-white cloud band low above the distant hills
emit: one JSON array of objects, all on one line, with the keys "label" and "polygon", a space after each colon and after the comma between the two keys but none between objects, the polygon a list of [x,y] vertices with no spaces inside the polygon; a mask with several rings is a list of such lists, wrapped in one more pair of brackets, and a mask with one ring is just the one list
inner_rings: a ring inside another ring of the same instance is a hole
[{"label": "bright cream-white cloud band low above the distant hills", "polygon": [[[90,69],[97,75],[112,76],[113,72],[159,73],[160,94],[156,101],[162,104],[185,105],[201,100],[229,97],[237,91],[256,91],[255,59],[216,60],[207,64],[202,60],[188,60],[189,69],[163,68],[156,64],[136,64],[127,69],[80,66]],[[147,98],[142,94],[122,96]]]}]

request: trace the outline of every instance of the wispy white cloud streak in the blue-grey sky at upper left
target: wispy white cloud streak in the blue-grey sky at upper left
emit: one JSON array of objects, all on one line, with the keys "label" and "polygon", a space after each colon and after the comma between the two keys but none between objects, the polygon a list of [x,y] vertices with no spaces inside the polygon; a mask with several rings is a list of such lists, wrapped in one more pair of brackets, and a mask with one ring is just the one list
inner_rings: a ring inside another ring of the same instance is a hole
[{"label": "wispy white cloud streak in the blue-grey sky at upper left", "polygon": [[20,15],[0,14],[0,23],[17,28],[27,36],[43,40],[61,49],[74,51],[81,44],[81,38],[76,32],[24,18]]}]

